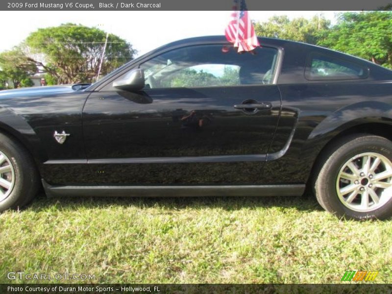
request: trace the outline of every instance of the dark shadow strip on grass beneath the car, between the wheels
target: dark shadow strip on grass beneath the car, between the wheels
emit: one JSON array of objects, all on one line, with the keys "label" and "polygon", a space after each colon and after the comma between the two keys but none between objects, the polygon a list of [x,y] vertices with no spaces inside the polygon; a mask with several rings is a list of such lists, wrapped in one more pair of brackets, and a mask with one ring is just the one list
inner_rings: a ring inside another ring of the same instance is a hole
[{"label": "dark shadow strip on grass beneath the car, between the wheels", "polygon": [[56,208],[57,210],[76,210],[78,208],[93,209],[113,206],[158,208],[168,210],[219,208],[235,211],[243,208],[295,208],[298,211],[322,211],[316,198],[312,195],[276,196],[276,197],[49,197],[40,193],[25,209],[42,211]]}]

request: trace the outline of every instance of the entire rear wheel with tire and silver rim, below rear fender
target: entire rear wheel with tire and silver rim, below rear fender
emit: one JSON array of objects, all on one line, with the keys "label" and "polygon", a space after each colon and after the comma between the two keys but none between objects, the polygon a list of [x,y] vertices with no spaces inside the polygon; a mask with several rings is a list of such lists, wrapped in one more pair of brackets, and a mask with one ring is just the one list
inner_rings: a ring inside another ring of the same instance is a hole
[{"label": "entire rear wheel with tire and silver rim, below rear fender", "polygon": [[315,193],[327,211],[347,219],[392,216],[392,142],[379,136],[355,135],[324,154]]}]

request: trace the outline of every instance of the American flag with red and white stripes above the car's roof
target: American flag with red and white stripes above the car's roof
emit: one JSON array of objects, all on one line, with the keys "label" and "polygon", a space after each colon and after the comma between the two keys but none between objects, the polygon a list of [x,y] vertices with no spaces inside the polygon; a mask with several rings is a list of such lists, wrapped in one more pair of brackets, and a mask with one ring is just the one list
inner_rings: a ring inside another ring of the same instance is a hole
[{"label": "American flag with red and white stripes above the car's roof", "polygon": [[[240,4],[240,9],[238,9]],[[250,22],[245,0],[234,0],[232,20],[227,25],[225,35],[227,41],[238,47],[238,52],[251,51],[260,46],[252,23]]]}]

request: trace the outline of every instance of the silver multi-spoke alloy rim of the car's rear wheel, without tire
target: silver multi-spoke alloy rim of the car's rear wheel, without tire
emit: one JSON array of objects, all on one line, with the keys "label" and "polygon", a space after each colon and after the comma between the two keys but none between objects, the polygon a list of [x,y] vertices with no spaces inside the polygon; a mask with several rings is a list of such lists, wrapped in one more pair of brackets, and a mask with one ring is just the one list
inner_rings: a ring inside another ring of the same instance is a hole
[{"label": "silver multi-spoke alloy rim of the car's rear wheel, without tire", "polygon": [[392,162],[374,152],[352,157],[338,174],[336,191],[351,210],[370,212],[380,208],[392,198]]}]

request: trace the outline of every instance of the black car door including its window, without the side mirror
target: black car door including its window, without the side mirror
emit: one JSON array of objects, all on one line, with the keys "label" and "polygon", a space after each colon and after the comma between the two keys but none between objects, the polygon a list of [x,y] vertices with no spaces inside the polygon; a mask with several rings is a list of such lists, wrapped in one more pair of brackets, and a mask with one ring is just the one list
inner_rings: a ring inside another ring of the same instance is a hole
[{"label": "black car door including its window, without the side mirror", "polygon": [[142,90],[119,90],[110,82],[92,93],[83,131],[97,183],[252,181],[279,117],[278,57],[270,47],[239,54],[221,44],[184,46],[138,64],[146,79]]}]

